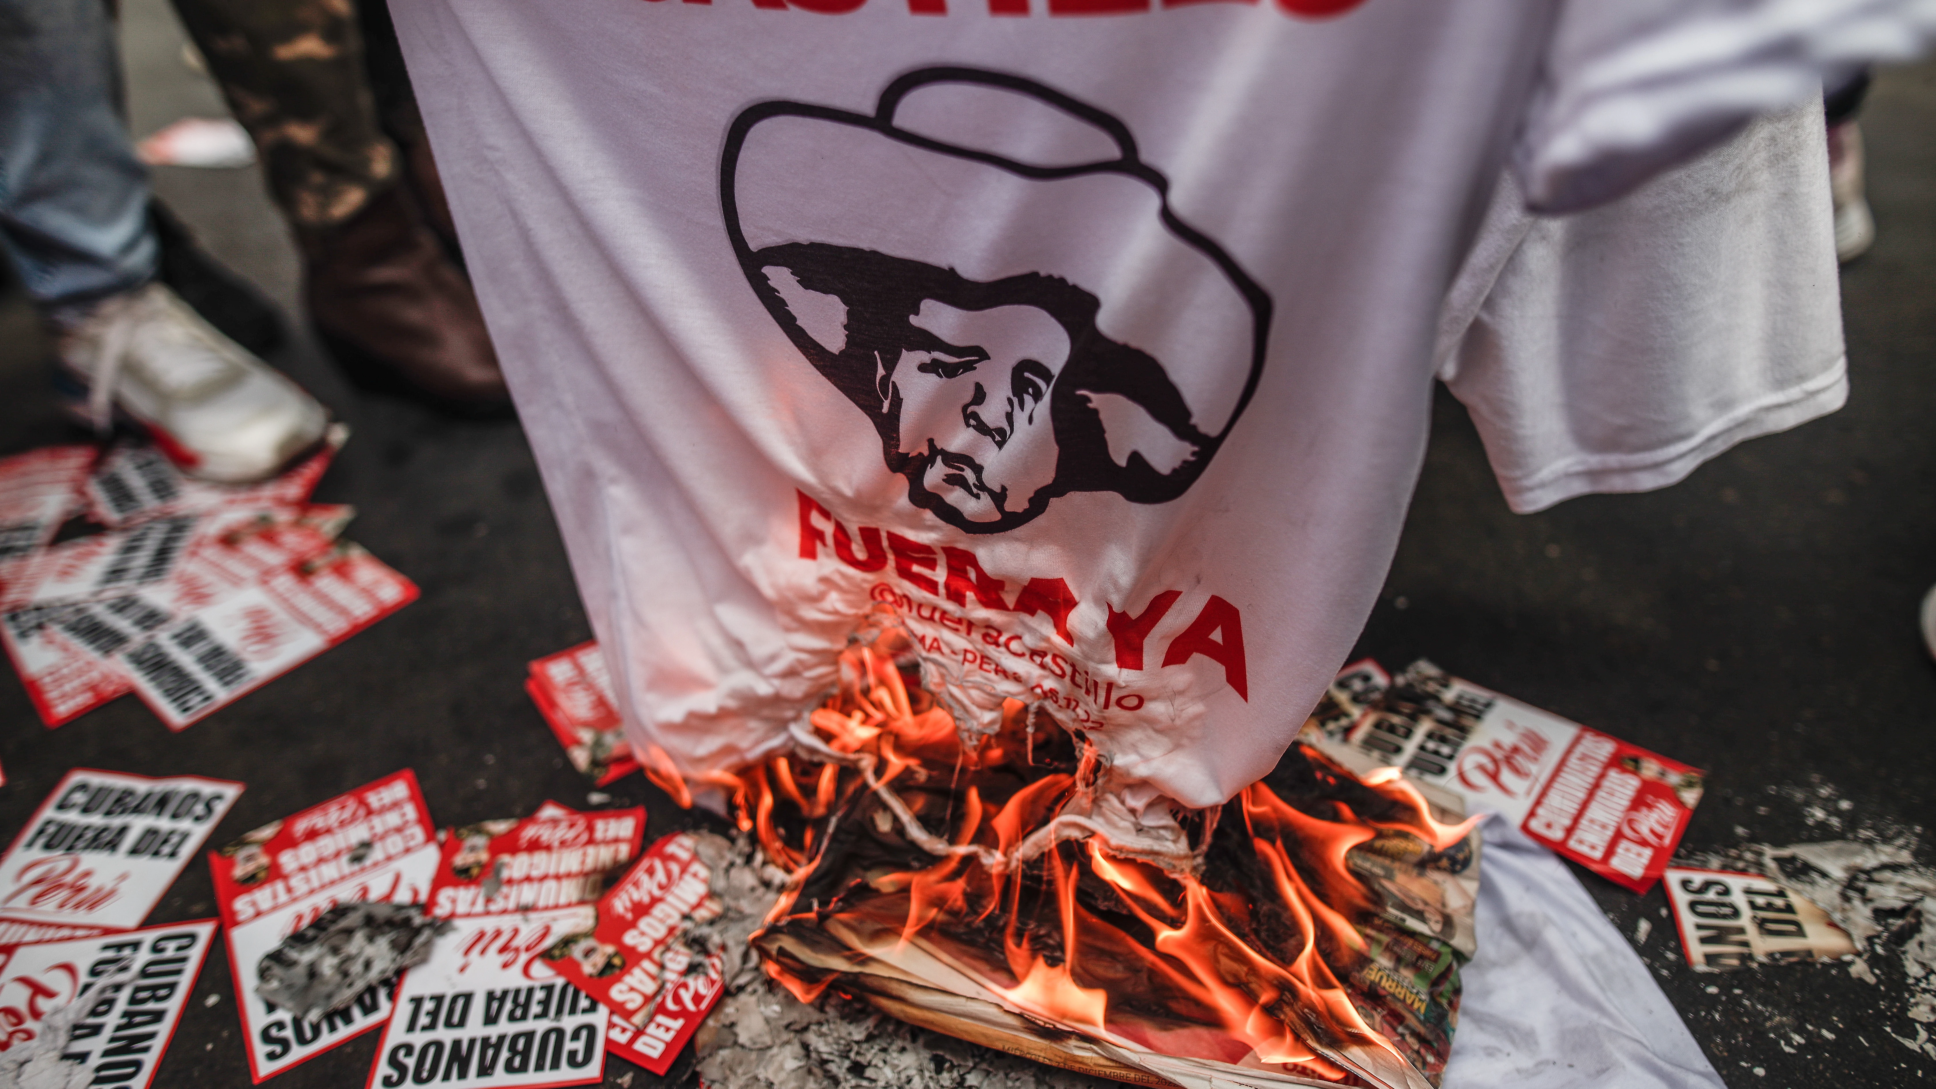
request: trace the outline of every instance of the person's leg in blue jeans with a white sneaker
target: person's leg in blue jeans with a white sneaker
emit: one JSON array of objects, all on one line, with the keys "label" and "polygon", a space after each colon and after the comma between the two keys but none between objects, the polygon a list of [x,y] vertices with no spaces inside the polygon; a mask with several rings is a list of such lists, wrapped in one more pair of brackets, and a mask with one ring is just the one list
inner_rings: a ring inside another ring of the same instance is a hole
[{"label": "person's leg in blue jeans with a white sneaker", "polygon": [[0,0],[0,240],[97,430],[118,411],[190,473],[261,479],[327,413],[155,279],[118,72],[101,0]]}]

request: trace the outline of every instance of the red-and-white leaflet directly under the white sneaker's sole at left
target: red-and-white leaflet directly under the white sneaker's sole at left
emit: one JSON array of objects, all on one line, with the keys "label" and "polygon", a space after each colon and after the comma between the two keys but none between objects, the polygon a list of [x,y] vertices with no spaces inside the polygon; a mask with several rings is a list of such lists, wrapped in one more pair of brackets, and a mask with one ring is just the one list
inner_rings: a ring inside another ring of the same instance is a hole
[{"label": "red-and-white leaflet directly under the white sneaker's sole at left", "polygon": [[120,527],[165,513],[300,506],[316,490],[316,482],[323,479],[323,471],[348,436],[348,426],[329,424],[316,453],[259,484],[196,481],[153,446],[118,446],[87,477],[87,513],[101,525]]}]

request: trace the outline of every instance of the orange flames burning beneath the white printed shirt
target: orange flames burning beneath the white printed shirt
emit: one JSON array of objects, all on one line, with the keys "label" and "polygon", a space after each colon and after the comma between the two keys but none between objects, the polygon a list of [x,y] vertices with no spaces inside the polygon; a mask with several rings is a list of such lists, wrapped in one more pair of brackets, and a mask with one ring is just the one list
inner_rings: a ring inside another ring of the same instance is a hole
[{"label": "orange flames burning beneath the white printed shirt", "polygon": [[[1473,822],[1433,820],[1396,769],[1361,781],[1390,802],[1382,822],[1342,802],[1332,802],[1332,816],[1315,816],[1253,785],[1233,806],[1270,903],[1111,853],[1100,837],[1018,860],[1016,847],[1094,775],[1094,752],[1065,754],[1061,763],[1051,756],[1061,769],[1038,765],[1053,738],[1040,740],[1038,717],[1014,701],[999,732],[964,744],[943,707],[920,688],[910,692],[892,657],[894,639],[889,632],[842,655],[838,690],[807,715],[802,729],[809,732],[796,729],[802,746],[720,783],[734,794],[740,825],[794,874],[769,926],[815,924],[832,913],[898,930],[900,949],[923,944],[968,965],[1009,1006],[1119,1042],[1160,1048],[1202,1025],[1222,1033],[1220,1046],[1237,1048],[1222,1054],[1229,1062],[1251,1054],[1326,1081],[1355,1081],[1326,1058],[1340,1048],[1382,1048],[1406,1062],[1359,1015],[1326,961],[1326,949],[1363,953],[1353,918],[1376,911],[1347,856],[1390,833],[1444,851]],[[645,765],[658,783],[670,760],[649,748]],[[983,777],[943,791],[964,773]],[[862,798],[865,793],[879,804]],[[831,843],[827,818],[834,814],[871,818],[883,835],[898,829],[900,841],[918,849],[914,858],[925,853],[925,860],[869,872],[832,905],[796,911],[800,887]],[[1262,915],[1280,934],[1268,944],[1258,938]],[[1001,922],[999,948],[991,934],[976,938],[991,920]],[[765,967],[802,1000],[831,982],[798,977],[772,959]]]}]

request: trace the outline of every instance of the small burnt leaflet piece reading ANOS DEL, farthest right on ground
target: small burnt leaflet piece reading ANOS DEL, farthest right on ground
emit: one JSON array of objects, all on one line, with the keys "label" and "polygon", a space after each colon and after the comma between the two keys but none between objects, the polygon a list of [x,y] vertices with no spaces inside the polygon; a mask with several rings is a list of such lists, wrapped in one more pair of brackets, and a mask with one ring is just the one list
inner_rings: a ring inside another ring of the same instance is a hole
[{"label": "small burnt leaflet piece reading ANOS DEL, farthest right on ground", "polygon": [[1696,969],[1833,961],[1859,953],[1849,932],[1826,911],[1760,874],[1669,866],[1665,880],[1680,948]]}]

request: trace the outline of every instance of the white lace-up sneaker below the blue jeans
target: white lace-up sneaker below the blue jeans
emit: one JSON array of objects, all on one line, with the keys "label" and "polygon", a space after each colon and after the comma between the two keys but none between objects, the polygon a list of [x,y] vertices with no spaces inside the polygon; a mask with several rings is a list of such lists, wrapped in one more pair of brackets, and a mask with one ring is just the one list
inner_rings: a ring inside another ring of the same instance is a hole
[{"label": "white lace-up sneaker below the blue jeans", "polygon": [[215,331],[159,283],[60,322],[60,360],[89,388],[87,422],[114,409],[190,477],[261,481],[323,436],[329,413]]}]

